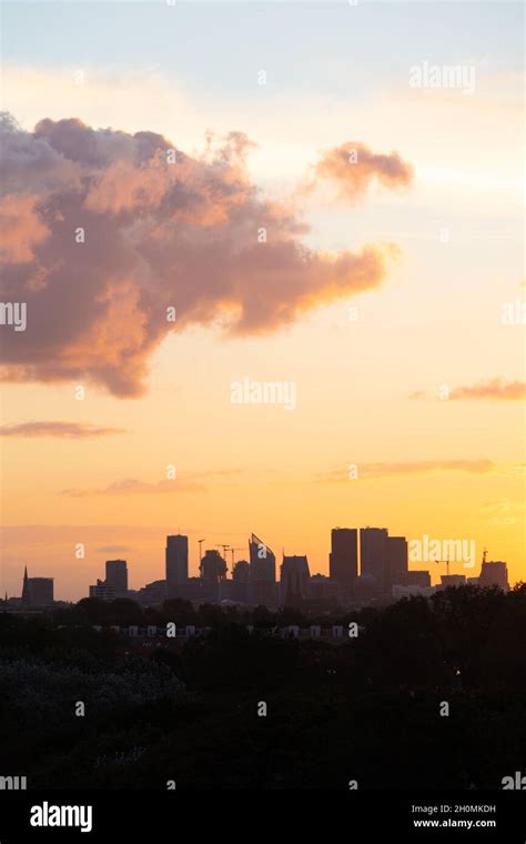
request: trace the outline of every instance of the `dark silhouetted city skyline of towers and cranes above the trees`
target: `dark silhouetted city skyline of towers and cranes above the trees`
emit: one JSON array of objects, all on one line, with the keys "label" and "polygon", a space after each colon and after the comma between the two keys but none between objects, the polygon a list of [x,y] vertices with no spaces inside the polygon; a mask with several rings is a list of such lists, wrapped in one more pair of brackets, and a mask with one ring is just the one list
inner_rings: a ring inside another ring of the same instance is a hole
[{"label": "dark silhouetted city skyline of towers and cranes above the trees", "polygon": [[[131,597],[140,600],[144,605],[162,603],[168,597],[185,597],[191,601],[221,601],[222,599],[234,600],[234,602],[246,605],[285,605],[286,596],[297,590],[296,597],[305,597],[300,580],[306,577],[306,582],[313,583],[317,579],[320,583],[326,582],[337,584],[337,592],[332,593],[336,597],[336,603],[345,605],[346,603],[367,603],[374,600],[391,600],[402,597],[403,592],[395,592],[394,586],[441,586],[446,585],[468,585],[478,583],[479,576],[483,575],[483,584],[490,585],[490,570],[504,566],[503,572],[507,587],[513,587],[514,583],[508,579],[507,563],[503,561],[487,561],[487,549],[484,549],[482,559],[464,560],[462,540],[433,540],[424,536],[425,554],[431,554],[427,559],[415,561],[415,546],[422,549],[422,541],[407,540],[405,536],[391,536],[388,529],[378,528],[333,528],[331,531],[331,547],[328,554],[328,571],[326,573],[314,569],[308,562],[308,555],[297,555],[285,553],[282,550],[282,562],[276,564],[276,556],[273,551],[254,533],[246,544],[247,553],[244,555],[242,546],[230,546],[226,543],[218,543],[214,547],[204,545],[205,539],[198,541],[199,551],[198,564],[190,566],[189,537],[185,534],[168,534],[165,537],[164,566],[162,569],[163,577],[154,580],[151,583],[139,585],[135,583],[132,589],[129,584],[130,570],[128,559],[104,560],[105,580],[97,579],[95,585],[89,586],[89,596],[100,597],[102,600],[114,600],[115,597]],[[444,551],[436,550],[436,543]],[[223,549],[221,554],[216,549]],[[473,551],[473,549],[472,549]],[[231,561],[229,564],[229,552]],[[237,554],[237,556],[236,556]],[[412,559],[413,554],[413,559]],[[439,559],[446,554],[446,559]],[[458,559],[461,557],[461,559]],[[218,561],[218,562],[216,562]],[[413,563],[413,565],[411,565]],[[241,566],[239,565],[241,564]],[[133,563],[131,563],[133,565]],[[416,565],[418,567],[416,567]],[[433,573],[435,566],[446,566]],[[218,567],[219,566],[219,567]],[[246,566],[244,574],[243,566]],[[380,567],[378,567],[380,566]],[[451,571],[457,569],[457,571]],[[237,571],[236,571],[237,567]],[[458,571],[461,567],[461,571]],[[243,569],[243,571],[242,571]],[[484,576],[485,570],[485,576]],[[412,575],[414,577],[412,579]],[[425,576],[424,576],[425,575]],[[294,581],[294,579],[300,580]],[[196,594],[185,593],[184,586],[191,582],[201,580],[202,583],[235,580],[246,583],[246,592],[243,595],[233,596],[223,594],[206,597]],[[486,582],[484,583],[484,580]],[[30,577],[29,582],[53,584],[54,577]],[[374,584],[371,591],[371,583],[364,591],[366,581]],[[500,576],[495,583],[500,583]],[[164,591],[159,592],[160,584],[164,584]],[[360,590],[355,590],[356,584]],[[45,585],[45,584],[44,584]],[[148,592],[149,587],[150,592]],[[183,587],[183,589],[181,589]],[[53,585],[50,586],[51,594]],[[142,594],[141,594],[142,593]],[[408,594],[408,593],[407,593]],[[17,599],[17,595],[7,595]],[[85,593],[77,597],[85,597]],[[311,595],[308,595],[311,596]],[[24,563],[23,590],[21,594],[22,602],[29,601],[28,586],[28,565]],[[64,597],[54,597],[54,600],[64,601]]]}]

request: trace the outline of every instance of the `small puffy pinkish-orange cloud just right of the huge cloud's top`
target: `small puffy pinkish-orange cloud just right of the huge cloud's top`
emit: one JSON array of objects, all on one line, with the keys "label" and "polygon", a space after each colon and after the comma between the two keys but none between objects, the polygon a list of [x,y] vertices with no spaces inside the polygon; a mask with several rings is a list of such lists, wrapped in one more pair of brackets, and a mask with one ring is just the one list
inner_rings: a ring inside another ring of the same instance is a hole
[{"label": "small puffy pinkish-orange cloud just right of the huge cloud's top", "polygon": [[316,180],[337,184],[342,199],[356,200],[378,182],[384,188],[407,188],[413,168],[397,152],[387,155],[370,150],[363,143],[343,143],[325,152],[315,167]]}]

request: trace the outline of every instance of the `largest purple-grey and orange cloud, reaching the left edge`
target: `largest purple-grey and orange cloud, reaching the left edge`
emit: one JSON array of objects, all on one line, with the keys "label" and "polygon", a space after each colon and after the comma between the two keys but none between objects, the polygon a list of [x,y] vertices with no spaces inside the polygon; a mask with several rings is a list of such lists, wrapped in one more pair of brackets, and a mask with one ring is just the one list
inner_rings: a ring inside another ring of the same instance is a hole
[{"label": "largest purple-grey and orange cloud, reaching the left edge", "polygon": [[[292,204],[269,201],[250,181],[251,143],[240,132],[192,158],[161,134],[77,119],[26,132],[6,117],[0,130],[1,208],[11,220],[1,298],[26,302],[28,313],[26,332],[3,332],[8,381],[85,379],[140,395],[152,352],[174,328],[274,331],[322,302],[378,288],[397,253],[390,244],[307,249]],[[397,158],[373,159],[368,173],[402,180]]]}]

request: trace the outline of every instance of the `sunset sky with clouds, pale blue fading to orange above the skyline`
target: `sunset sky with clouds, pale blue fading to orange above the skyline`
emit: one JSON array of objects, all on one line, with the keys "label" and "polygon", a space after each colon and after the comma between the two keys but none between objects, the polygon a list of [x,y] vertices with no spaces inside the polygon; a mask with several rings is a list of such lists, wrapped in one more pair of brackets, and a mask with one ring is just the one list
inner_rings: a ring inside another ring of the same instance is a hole
[{"label": "sunset sky with clouds, pale blue fading to orange above the skyline", "polygon": [[2,592],[136,589],[179,531],[327,573],[366,525],[526,580],[523,17],[2,4]]}]

